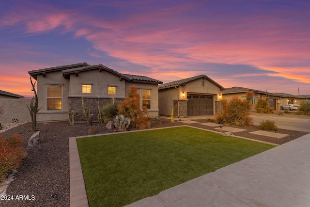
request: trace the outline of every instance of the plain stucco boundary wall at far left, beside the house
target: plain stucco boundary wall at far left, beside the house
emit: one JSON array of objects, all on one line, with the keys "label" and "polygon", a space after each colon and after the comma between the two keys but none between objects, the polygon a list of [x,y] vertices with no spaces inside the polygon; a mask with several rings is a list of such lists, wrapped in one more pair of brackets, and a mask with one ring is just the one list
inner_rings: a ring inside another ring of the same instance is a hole
[{"label": "plain stucco boundary wall at far left, beside the house", "polygon": [[18,122],[31,121],[30,112],[27,108],[30,106],[31,99],[18,98],[1,98],[0,106],[3,110],[3,116],[0,118],[0,123],[11,123],[12,120]]}]

